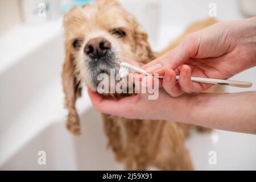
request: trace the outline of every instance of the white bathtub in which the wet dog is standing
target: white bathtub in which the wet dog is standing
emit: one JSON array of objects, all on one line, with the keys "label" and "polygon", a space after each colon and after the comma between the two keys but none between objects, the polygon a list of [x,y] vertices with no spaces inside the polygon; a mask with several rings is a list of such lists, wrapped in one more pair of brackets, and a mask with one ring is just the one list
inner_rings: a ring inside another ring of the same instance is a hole
[{"label": "white bathtub in which the wet dog is standing", "polygon": [[[4,49],[0,57],[7,55],[6,59],[10,59],[2,60],[7,63],[2,62],[0,66],[0,169],[122,170],[113,152],[106,148],[101,115],[93,110],[86,89],[77,103],[81,137],[65,129],[67,111],[63,108],[60,77],[64,60],[60,24],[49,24],[46,30],[38,28],[40,39],[25,30],[27,35],[19,37],[23,43],[16,45],[15,39],[12,40],[11,49],[0,41],[0,49]],[[160,42],[154,47],[164,47],[183,28],[163,27]],[[47,36],[47,31],[51,36]],[[38,44],[29,43],[34,39],[40,40]],[[4,41],[10,43],[11,40]],[[23,47],[24,44],[32,48]],[[30,51],[26,51],[28,49]],[[11,51],[20,53],[15,56]],[[256,69],[253,68],[237,75],[236,79],[253,82],[250,90],[256,90],[255,77]],[[220,130],[208,134],[193,132],[187,146],[197,170],[256,169],[256,135]],[[38,164],[39,151],[46,152],[46,165]],[[216,165],[209,164],[209,151],[216,151]]]}]

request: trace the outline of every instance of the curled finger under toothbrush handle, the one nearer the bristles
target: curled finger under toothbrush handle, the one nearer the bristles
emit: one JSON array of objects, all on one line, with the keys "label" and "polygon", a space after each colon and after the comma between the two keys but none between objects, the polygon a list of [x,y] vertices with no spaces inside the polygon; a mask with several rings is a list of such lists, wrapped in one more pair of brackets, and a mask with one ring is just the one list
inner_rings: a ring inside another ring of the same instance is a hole
[{"label": "curled finger under toothbrush handle, the one nearer the bristles", "polygon": [[163,88],[172,97],[181,96],[184,92],[176,84],[176,73],[172,69],[167,69],[164,74]]}]

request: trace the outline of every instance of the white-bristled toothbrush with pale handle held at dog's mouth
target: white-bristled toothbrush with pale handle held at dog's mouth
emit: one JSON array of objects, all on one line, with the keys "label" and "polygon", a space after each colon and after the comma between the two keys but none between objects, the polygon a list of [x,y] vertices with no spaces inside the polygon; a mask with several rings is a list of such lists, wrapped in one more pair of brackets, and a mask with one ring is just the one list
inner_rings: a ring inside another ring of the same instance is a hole
[{"label": "white-bristled toothbrush with pale handle held at dog's mouth", "polygon": [[[121,78],[128,76],[130,69],[139,73],[143,73],[145,75],[151,75],[150,73],[147,73],[144,69],[134,67],[134,65],[131,65],[129,63],[122,62],[120,65],[121,67],[119,69],[119,74]],[[163,76],[155,76],[155,77],[163,78]],[[179,76],[176,76],[176,80],[179,80]],[[220,80],[220,79],[214,79],[214,78],[200,78],[200,77],[191,77],[191,81],[201,82],[205,84],[229,85],[229,86],[236,86],[241,88],[249,88],[253,85],[251,82],[245,82],[245,81]]]}]

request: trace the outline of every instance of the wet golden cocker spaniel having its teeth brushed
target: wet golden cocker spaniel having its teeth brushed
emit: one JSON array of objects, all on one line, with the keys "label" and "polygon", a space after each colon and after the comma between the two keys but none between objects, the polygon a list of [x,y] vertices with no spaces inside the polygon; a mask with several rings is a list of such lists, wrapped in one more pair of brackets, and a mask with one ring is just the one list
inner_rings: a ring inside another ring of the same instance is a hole
[{"label": "wet golden cocker spaniel having its teeth brushed", "polygon": [[[214,20],[199,23],[199,28]],[[97,76],[118,71],[122,56],[143,65],[160,54],[151,50],[147,34],[135,17],[116,0],[98,0],[93,5],[73,7],[64,16],[65,60],[63,89],[69,114],[67,129],[79,135],[80,124],[75,103],[83,84],[96,91]],[[185,36],[185,35],[183,35]],[[183,37],[182,36],[182,37]],[[176,42],[179,42],[177,39]],[[175,45],[171,44],[171,49]],[[164,51],[162,52],[164,53]],[[191,125],[170,121],[126,119],[102,114],[108,146],[115,159],[127,170],[192,170],[185,138]]]}]

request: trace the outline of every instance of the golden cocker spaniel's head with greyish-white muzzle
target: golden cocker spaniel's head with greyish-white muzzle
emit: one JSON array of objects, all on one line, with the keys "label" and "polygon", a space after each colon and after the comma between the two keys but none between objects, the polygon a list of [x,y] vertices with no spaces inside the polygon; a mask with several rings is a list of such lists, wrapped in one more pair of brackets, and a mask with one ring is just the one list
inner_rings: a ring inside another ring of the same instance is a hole
[{"label": "golden cocker spaniel's head with greyish-white muzzle", "polygon": [[63,86],[69,109],[68,129],[76,133],[77,129],[71,129],[69,124],[78,124],[75,101],[81,84],[96,90],[97,76],[110,74],[110,69],[117,73],[122,57],[146,63],[153,54],[147,34],[116,0],[73,7],[64,16],[64,37]]}]

